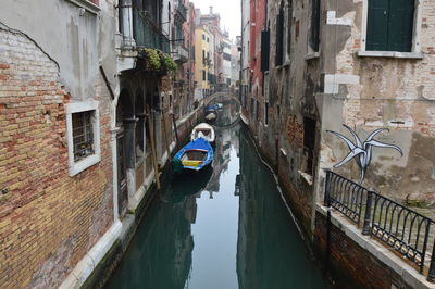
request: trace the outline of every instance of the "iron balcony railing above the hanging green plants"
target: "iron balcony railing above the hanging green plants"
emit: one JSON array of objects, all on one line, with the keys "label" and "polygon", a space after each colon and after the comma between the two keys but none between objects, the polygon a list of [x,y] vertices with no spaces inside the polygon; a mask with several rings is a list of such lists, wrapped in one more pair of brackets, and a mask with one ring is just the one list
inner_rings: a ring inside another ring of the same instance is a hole
[{"label": "iron balcony railing above the hanging green plants", "polygon": [[170,53],[170,39],[140,10],[133,8],[133,36],[136,46],[159,49]]}]

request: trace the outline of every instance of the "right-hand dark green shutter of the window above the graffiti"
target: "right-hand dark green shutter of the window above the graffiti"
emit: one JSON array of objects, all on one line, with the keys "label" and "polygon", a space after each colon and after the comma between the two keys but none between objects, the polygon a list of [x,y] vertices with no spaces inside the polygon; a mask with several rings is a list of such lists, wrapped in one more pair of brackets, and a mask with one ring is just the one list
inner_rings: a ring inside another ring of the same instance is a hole
[{"label": "right-hand dark green shutter of the window above the graffiti", "polygon": [[414,0],[389,1],[388,51],[411,51],[413,14]]}]

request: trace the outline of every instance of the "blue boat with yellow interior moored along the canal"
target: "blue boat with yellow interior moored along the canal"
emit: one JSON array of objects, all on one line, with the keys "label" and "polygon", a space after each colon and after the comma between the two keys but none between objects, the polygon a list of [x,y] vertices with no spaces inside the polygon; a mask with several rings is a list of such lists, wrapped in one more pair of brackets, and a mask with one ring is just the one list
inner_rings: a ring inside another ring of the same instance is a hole
[{"label": "blue boat with yellow interior moored along the canal", "polygon": [[176,174],[184,171],[198,172],[211,164],[213,154],[213,148],[209,141],[197,138],[175,154],[172,159],[172,167]]}]

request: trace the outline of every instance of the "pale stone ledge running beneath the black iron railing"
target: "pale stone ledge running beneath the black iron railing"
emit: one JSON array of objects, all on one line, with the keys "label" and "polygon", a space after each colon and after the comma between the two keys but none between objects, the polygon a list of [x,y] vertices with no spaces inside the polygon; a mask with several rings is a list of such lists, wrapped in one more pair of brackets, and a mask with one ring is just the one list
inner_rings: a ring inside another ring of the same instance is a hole
[{"label": "pale stone ledge running beneath the black iron railing", "polygon": [[[316,203],[315,210],[324,216],[327,215],[326,206]],[[426,280],[426,276],[420,274],[417,269],[411,267],[408,263],[391,252],[387,247],[382,246],[368,236],[363,236],[359,228],[352,225],[341,214],[334,212],[334,209],[331,211],[331,222],[343,233],[345,233],[346,236],[348,236],[351,240],[366,250],[368,253],[372,254],[374,257],[400,275],[403,281],[411,288],[435,288],[435,284],[428,282]]]}]

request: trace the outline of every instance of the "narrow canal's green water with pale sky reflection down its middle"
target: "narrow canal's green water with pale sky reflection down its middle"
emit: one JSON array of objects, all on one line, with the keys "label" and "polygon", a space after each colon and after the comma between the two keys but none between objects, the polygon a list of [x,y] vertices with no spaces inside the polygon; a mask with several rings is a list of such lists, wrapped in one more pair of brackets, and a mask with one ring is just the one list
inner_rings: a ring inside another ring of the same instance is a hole
[{"label": "narrow canal's green water with pale sky reflection down its middle", "polygon": [[213,167],[167,181],[105,288],[326,288],[245,127],[216,128]]}]

